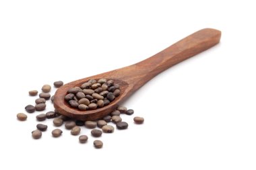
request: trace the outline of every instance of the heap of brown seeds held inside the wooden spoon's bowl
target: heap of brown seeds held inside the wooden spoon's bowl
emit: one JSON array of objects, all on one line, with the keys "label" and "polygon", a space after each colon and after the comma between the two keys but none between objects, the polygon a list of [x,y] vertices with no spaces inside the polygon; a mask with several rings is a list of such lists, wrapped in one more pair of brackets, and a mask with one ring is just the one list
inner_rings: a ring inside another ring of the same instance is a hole
[{"label": "heap of brown seeds held inside the wooden spoon's bowl", "polygon": [[96,110],[103,108],[120,95],[119,84],[113,80],[91,79],[81,87],[72,87],[67,91],[65,100],[72,108]]}]

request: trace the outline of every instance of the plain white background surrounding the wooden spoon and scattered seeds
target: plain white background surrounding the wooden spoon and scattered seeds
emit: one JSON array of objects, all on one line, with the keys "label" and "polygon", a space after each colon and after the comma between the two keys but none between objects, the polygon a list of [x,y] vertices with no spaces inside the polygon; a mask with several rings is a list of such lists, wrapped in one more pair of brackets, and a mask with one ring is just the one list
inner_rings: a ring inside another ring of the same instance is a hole
[{"label": "plain white background surrounding the wooden spoon and scattered seeds", "polygon": [[[255,15],[245,0],[0,1],[0,169],[256,169]],[[79,144],[63,126],[52,138],[49,120],[33,140],[38,112],[16,119],[29,90],[131,65],[201,28],[221,30],[220,44],[127,99],[129,129],[103,134],[102,149],[86,128]]]}]

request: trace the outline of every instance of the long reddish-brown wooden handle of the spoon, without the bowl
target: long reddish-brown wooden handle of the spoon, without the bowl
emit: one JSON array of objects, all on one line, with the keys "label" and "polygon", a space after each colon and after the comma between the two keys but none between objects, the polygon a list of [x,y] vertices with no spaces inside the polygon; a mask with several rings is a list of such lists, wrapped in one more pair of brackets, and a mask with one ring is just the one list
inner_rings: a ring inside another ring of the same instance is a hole
[{"label": "long reddish-brown wooden handle of the spoon, without the bowl", "polygon": [[218,44],[220,36],[219,30],[212,28],[199,30],[154,56],[117,71],[123,72],[119,74],[120,78],[133,85],[132,89],[135,91],[162,71]]}]

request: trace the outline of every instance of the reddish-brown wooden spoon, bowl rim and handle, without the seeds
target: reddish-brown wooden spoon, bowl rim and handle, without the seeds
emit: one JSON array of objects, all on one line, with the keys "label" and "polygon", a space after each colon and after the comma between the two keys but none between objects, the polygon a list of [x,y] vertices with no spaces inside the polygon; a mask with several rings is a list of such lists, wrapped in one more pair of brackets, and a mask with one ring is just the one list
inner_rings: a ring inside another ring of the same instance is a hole
[{"label": "reddish-brown wooden spoon, bowl rim and handle, without the seeds", "polygon": [[[100,119],[110,112],[113,112],[117,105],[134,93],[139,87],[150,81],[153,77],[176,65],[177,63],[194,56],[220,42],[221,32],[211,28],[199,30],[187,36],[183,40],[169,46],[158,54],[128,67],[123,67],[100,75],[94,75],[84,79],[79,79],[67,83],[60,87],[55,93],[54,107],[55,110],[76,120],[96,120]],[[81,86],[89,79],[113,79],[120,85],[121,94],[109,105],[96,110],[81,111],[69,106],[64,97],[67,90],[71,87]]]}]

